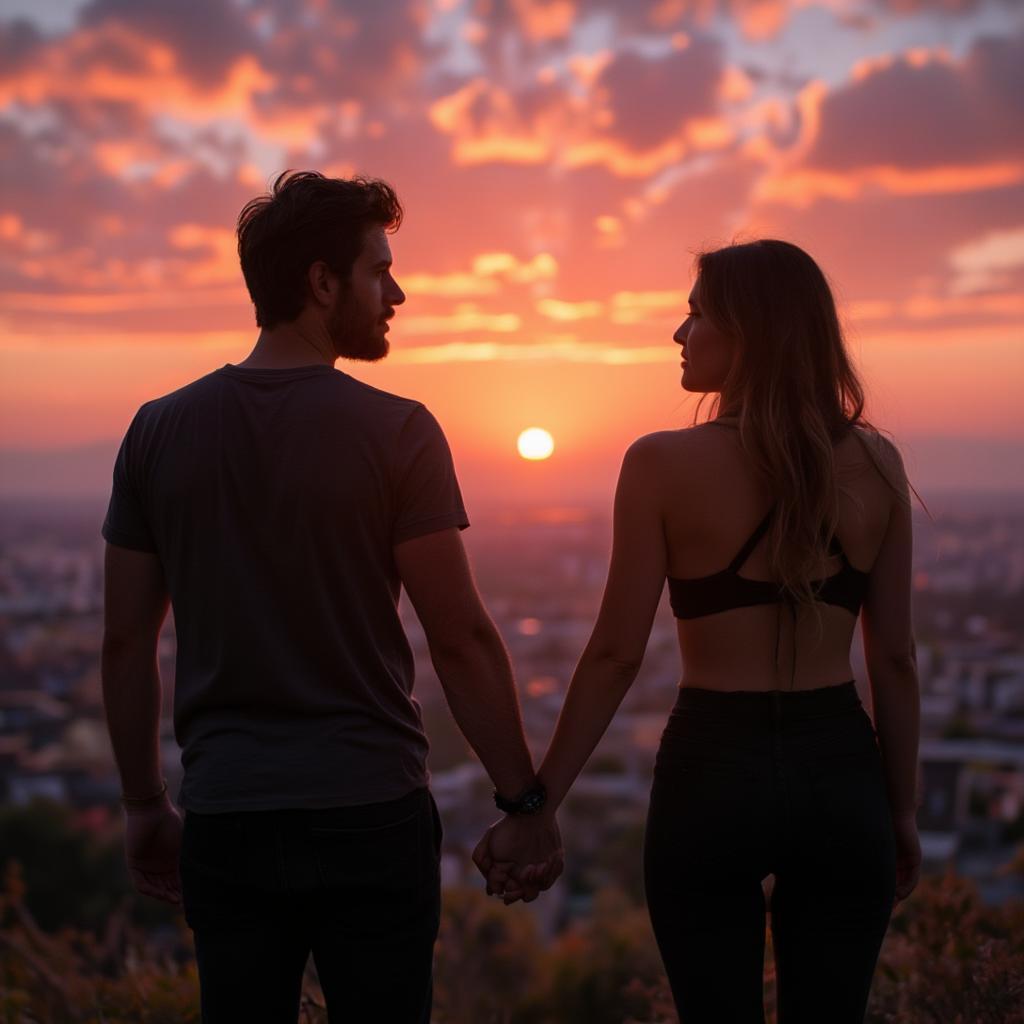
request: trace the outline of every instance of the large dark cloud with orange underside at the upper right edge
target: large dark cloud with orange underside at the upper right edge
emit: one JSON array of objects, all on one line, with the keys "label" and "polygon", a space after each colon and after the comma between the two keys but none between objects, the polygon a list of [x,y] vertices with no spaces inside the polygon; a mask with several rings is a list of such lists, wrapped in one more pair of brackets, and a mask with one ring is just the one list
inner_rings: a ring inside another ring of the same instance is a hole
[{"label": "large dark cloud with orange underside at the upper right edge", "polygon": [[901,57],[824,98],[807,163],[964,165],[1020,157],[1024,35],[978,42],[964,65]]}]

